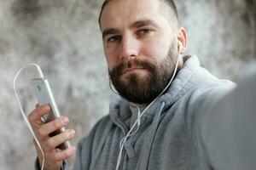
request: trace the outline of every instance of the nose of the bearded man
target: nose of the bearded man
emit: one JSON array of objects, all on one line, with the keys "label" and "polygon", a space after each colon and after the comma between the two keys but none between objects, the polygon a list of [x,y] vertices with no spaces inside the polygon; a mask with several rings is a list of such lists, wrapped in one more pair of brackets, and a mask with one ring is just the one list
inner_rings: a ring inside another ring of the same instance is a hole
[{"label": "nose of the bearded man", "polygon": [[135,37],[124,36],[121,42],[121,59],[137,57],[139,54],[139,42]]}]

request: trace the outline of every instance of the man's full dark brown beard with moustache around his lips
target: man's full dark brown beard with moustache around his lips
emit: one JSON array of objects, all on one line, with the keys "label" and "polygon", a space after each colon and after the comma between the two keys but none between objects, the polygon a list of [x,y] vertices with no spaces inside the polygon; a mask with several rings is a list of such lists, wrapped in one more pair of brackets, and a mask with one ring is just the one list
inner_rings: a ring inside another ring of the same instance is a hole
[{"label": "man's full dark brown beard with moustache around his lips", "polygon": [[[171,45],[165,59],[155,60],[130,59],[113,67],[109,77],[119,95],[136,104],[147,104],[153,101],[165,88],[172,78],[178,54]],[[123,75],[125,69],[143,67],[146,75],[129,73]]]}]

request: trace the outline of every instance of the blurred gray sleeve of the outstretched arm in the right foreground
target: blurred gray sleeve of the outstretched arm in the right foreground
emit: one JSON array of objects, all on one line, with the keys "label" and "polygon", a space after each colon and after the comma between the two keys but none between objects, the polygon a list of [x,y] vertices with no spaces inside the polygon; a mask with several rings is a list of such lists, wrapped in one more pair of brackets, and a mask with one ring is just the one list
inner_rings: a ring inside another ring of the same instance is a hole
[{"label": "blurred gray sleeve of the outstretched arm in the right foreground", "polygon": [[224,95],[201,119],[201,145],[214,169],[256,167],[256,71]]}]

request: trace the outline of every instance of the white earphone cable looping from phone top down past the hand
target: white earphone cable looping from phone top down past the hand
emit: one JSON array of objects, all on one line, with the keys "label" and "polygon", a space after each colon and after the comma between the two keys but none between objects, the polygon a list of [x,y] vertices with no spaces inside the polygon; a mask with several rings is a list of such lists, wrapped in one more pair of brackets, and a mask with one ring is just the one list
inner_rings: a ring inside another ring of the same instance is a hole
[{"label": "white earphone cable looping from phone top down past the hand", "polygon": [[33,135],[33,137],[34,137],[36,143],[38,144],[39,150],[40,150],[41,153],[42,153],[43,161],[42,161],[41,170],[44,170],[44,151],[43,151],[43,149],[42,149],[42,147],[41,147],[41,144],[39,143],[39,141],[38,141],[38,139],[37,139],[35,133],[34,133],[33,130],[32,130],[31,124],[30,124],[30,123],[28,122],[28,120],[27,120],[27,117],[26,117],[26,115],[25,115],[25,113],[24,113],[24,111],[23,111],[22,105],[20,104],[20,99],[19,99],[19,96],[18,96],[17,91],[16,91],[16,88],[15,88],[15,83],[16,83],[17,77],[20,75],[20,72],[23,71],[27,66],[36,66],[36,67],[37,67],[37,70],[38,70],[39,77],[40,77],[40,78],[44,78],[44,74],[43,74],[42,70],[40,69],[39,65],[37,65],[37,64],[27,64],[27,65],[23,66],[23,67],[16,73],[15,78],[14,78],[15,97],[16,97],[16,99],[17,99],[17,101],[18,101],[19,106],[20,106],[21,115],[22,115],[24,121],[26,122],[26,125],[27,125],[27,127],[29,128],[30,132],[32,133],[32,135]]}]

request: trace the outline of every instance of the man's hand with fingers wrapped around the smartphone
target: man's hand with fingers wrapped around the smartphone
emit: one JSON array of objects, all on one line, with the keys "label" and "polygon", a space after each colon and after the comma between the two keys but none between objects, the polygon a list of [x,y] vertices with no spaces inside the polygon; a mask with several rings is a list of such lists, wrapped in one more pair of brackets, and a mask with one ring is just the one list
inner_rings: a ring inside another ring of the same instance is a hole
[{"label": "man's hand with fingers wrapped around the smartphone", "polygon": [[[59,150],[56,146],[69,139],[73,139],[75,131],[73,129],[67,129],[64,132],[50,137],[49,133],[53,133],[61,127],[67,126],[69,120],[67,116],[61,116],[56,118],[54,121],[45,123],[41,120],[41,117],[49,113],[49,111],[49,105],[36,105],[36,109],[29,114],[28,121],[32,125],[32,129],[44,151],[44,169],[60,170],[62,161],[73,156],[76,152],[76,148],[71,146],[66,150]],[[35,141],[34,144],[38,153],[40,166],[42,166],[43,155]]]}]

